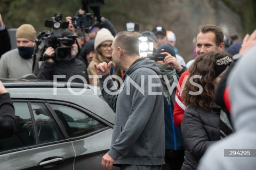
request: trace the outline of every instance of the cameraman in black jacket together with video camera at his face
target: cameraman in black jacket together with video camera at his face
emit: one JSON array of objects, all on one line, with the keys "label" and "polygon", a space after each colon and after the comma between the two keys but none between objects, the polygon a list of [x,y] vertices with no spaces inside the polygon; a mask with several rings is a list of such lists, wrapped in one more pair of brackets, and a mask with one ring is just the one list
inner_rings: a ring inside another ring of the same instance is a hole
[{"label": "cameraman in black jacket together with video camera at his face", "polygon": [[[68,81],[73,75],[81,75],[89,82],[86,65],[78,59],[76,36],[70,31],[62,31],[61,38],[58,42],[60,47],[46,48],[43,54],[44,62],[37,75],[38,79],[53,80],[53,75],[66,75],[66,78],[58,80]],[[84,83],[81,79],[74,79],[74,82]]]}]

